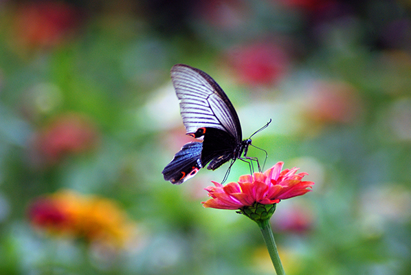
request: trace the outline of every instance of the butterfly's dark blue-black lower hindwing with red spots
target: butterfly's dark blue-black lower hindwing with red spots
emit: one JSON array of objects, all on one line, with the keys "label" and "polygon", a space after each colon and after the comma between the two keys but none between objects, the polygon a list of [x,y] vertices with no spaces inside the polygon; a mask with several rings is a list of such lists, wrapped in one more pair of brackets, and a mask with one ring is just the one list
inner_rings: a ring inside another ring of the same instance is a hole
[{"label": "butterfly's dark blue-black lower hindwing with red spots", "polygon": [[189,142],[175,154],[173,160],[162,171],[164,179],[172,184],[182,184],[194,177],[201,166],[202,142]]}]

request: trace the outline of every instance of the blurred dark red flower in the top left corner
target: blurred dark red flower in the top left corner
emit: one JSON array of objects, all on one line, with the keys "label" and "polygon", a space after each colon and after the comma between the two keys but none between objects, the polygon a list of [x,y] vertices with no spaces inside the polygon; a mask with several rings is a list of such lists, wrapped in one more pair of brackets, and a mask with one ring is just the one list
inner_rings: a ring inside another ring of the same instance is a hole
[{"label": "blurred dark red flower in the top left corner", "polygon": [[62,1],[23,3],[14,18],[17,46],[53,47],[60,44],[80,22],[80,13]]}]

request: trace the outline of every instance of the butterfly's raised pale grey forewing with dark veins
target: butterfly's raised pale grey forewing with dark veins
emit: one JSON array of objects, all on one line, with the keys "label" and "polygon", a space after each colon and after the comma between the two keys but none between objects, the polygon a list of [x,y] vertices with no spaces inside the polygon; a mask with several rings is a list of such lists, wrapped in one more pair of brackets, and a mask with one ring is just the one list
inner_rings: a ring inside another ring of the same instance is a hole
[{"label": "butterfly's raised pale grey forewing with dark veins", "polygon": [[205,72],[188,65],[177,64],[171,69],[171,79],[180,100],[180,112],[187,133],[201,127],[220,129],[242,139],[240,120],[223,89]]}]

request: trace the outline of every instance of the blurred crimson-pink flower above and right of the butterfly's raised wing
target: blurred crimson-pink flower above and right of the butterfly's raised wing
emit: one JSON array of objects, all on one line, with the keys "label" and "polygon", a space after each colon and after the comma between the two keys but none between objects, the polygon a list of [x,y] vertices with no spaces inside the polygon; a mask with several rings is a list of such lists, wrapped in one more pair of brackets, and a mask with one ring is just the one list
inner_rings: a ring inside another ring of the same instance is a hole
[{"label": "blurred crimson-pink flower above and right of the butterfly's raised wing", "polygon": [[228,63],[241,83],[271,85],[285,76],[289,58],[273,43],[255,43],[232,48]]}]

